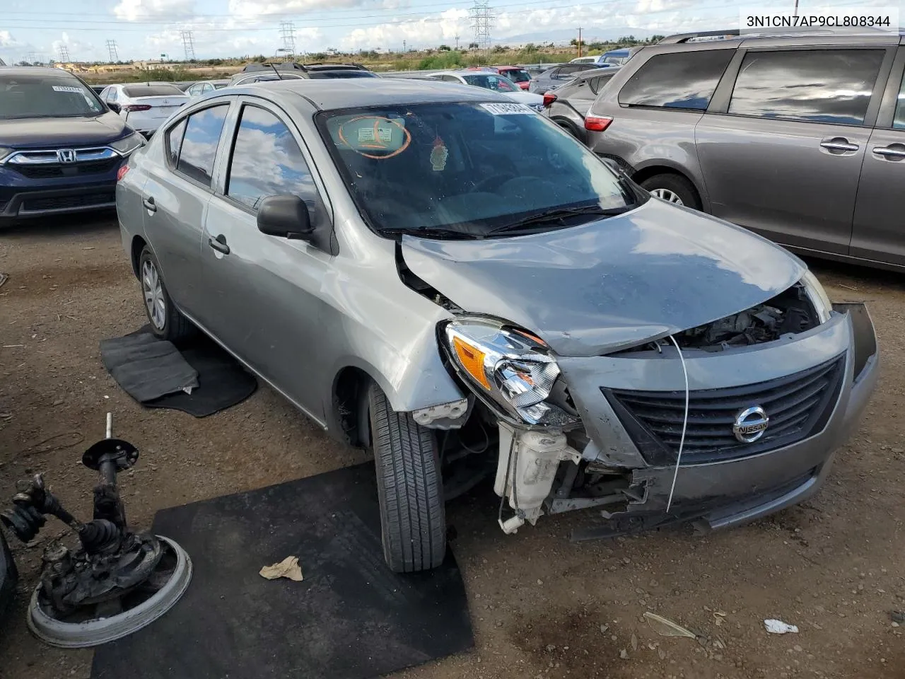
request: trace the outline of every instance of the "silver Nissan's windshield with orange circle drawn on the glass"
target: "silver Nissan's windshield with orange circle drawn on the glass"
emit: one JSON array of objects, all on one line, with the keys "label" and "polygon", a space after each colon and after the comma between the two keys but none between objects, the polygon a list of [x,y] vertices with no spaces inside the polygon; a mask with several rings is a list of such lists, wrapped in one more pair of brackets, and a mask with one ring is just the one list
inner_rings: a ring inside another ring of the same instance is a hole
[{"label": "silver Nissan's windshield with orange circle drawn on the glass", "polygon": [[[551,211],[640,199],[583,145],[524,104],[431,103],[329,111],[319,129],[378,233],[489,234]],[[572,215],[548,230],[599,219]]]}]

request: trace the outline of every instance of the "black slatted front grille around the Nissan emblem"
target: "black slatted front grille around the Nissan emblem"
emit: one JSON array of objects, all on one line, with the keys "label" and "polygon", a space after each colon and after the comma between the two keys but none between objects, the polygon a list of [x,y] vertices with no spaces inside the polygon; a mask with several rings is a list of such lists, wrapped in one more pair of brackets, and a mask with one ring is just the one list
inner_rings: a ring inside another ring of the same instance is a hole
[{"label": "black slatted front grille around the Nissan emblem", "polygon": [[[767,382],[692,391],[683,462],[743,457],[811,435],[829,416],[842,383],[843,366],[841,356]],[[681,440],[685,392],[603,391],[648,462],[674,463]],[[763,407],[769,425],[757,441],[746,444],[738,441],[732,426],[738,414],[750,406]]]}]

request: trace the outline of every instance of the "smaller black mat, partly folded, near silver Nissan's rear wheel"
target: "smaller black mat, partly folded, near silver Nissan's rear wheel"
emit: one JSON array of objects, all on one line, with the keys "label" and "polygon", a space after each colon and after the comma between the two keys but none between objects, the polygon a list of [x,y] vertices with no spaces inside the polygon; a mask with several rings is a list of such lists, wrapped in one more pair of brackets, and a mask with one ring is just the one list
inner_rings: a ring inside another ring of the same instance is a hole
[{"label": "smaller black mat, partly folded, near silver Nissan's rear wheel", "polygon": [[[190,394],[181,390],[170,390],[169,382],[172,380],[169,380],[166,385],[162,384],[164,380],[168,379],[171,371],[164,369],[165,366],[162,362],[156,367],[153,360],[148,359],[148,356],[154,353],[153,346],[144,347],[143,355],[136,354],[133,357],[137,361],[141,361],[139,370],[129,370],[128,365],[125,367],[119,365],[119,369],[116,372],[110,368],[110,359],[116,355],[111,349],[130,346],[136,338],[149,333],[150,326],[146,325],[144,328],[131,332],[123,338],[105,339],[100,342],[100,356],[110,374],[119,382],[119,386],[129,396],[135,398],[144,406],[172,408],[174,410],[182,410],[195,417],[206,417],[241,403],[252,396],[254,390],[258,387],[258,382],[254,376],[246,371],[236,359],[233,359],[224,349],[221,349],[213,339],[209,339],[200,333],[193,339],[184,340],[176,344],[176,349],[181,354],[181,359],[184,359],[182,362],[197,372],[197,387],[193,388]],[[156,339],[155,341],[161,346],[169,344],[169,342],[161,339]],[[166,353],[161,352],[161,354],[166,357]],[[123,357],[119,356],[117,358]],[[128,357],[126,358],[128,359]],[[169,357],[169,359],[171,358]],[[120,381],[119,375],[123,372],[129,375],[130,381]],[[139,380],[145,380],[144,384],[139,384],[138,388],[133,384],[136,381],[136,377]],[[155,384],[155,382],[160,382],[161,384]],[[144,394],[153,394],[155,391],[164,393],[165,396],[142,398]]]}]

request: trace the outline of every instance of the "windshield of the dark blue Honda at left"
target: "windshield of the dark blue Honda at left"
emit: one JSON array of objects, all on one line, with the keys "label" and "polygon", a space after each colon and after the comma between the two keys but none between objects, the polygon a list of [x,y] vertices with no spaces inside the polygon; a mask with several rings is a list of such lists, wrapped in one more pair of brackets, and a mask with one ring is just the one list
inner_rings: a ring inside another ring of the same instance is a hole
[{"label": "windshield of the dark blue Honda at left", "polygon": [[0,120],[93,117],[106,110],[90,87],[65,73],[0,73]]}]

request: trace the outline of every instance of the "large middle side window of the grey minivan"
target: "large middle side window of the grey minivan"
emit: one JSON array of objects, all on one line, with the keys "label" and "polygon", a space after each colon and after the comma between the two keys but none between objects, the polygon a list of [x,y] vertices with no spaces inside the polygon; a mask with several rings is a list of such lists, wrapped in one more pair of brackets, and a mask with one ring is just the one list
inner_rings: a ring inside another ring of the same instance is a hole
[{"label": "large middle side window of the grey minivan", "polygon": [[729,113],[862,125],[883,50],[749,52]]}]

